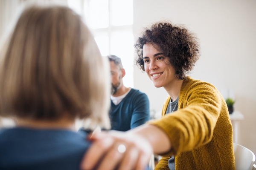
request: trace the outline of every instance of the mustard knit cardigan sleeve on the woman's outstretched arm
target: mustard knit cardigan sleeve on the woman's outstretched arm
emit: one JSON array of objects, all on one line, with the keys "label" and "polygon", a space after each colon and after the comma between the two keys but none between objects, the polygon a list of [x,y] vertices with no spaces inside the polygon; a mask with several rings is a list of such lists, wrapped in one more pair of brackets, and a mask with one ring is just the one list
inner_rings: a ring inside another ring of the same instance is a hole
[{"label": "mustard knit cardigan sleeve on the woman's outstretched arm", "polygon": [[169,136],[172,148],[167,155],[193,150],[211,141],[220,115],[221,98],[218,90],[209,83],[195,81],[189,76],[183,81],[178,110],[165,115],[169,96],[163,106],[163,117],[150,123]]}]

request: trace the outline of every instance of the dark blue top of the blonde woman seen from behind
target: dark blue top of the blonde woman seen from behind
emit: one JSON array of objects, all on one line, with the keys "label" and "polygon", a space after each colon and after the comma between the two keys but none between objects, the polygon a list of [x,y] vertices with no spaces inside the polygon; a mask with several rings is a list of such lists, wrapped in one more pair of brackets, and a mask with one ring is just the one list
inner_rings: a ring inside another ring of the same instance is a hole
[{"label": "dark blue top of the blonde woman seen from behind", "polygon": [[0,131],[0,170],[79,170],[87,133],[12,128]]}]

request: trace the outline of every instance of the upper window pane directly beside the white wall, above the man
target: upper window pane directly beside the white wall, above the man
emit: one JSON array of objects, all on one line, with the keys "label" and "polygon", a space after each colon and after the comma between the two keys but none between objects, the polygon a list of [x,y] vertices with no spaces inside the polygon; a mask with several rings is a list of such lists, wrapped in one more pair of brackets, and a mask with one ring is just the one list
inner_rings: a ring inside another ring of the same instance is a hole
[{"label": "upper window pane directly beside the white wall, above the man", "polygon": [[112,0],[111,7],[114,26],[133,24],[133,0]]}]

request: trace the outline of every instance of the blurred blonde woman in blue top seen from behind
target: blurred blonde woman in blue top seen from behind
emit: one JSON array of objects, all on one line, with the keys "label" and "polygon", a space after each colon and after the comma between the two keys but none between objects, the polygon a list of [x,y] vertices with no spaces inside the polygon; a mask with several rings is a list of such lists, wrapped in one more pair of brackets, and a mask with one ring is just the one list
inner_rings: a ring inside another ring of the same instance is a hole
[{"label": "blurred blonde woman in blue top seen from behind", "polygon": [[90,141],[75,119],[110,126],[109,78],[90,31],[67,7],[32,6],[5,44],[0,116],[18,124],[0,131],[0,169],[79,170]]}]

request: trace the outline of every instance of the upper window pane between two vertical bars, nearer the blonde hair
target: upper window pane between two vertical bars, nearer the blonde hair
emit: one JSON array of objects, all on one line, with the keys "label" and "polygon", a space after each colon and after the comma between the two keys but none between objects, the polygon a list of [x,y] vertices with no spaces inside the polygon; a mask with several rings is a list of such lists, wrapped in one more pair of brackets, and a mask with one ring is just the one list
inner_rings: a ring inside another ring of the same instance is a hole
[{"label": "upper window pane between two vertical bars, nearer the blonde hair", "polygon": [[108,0],[90,0],[89,25],[93,29],[108,27]]}]

